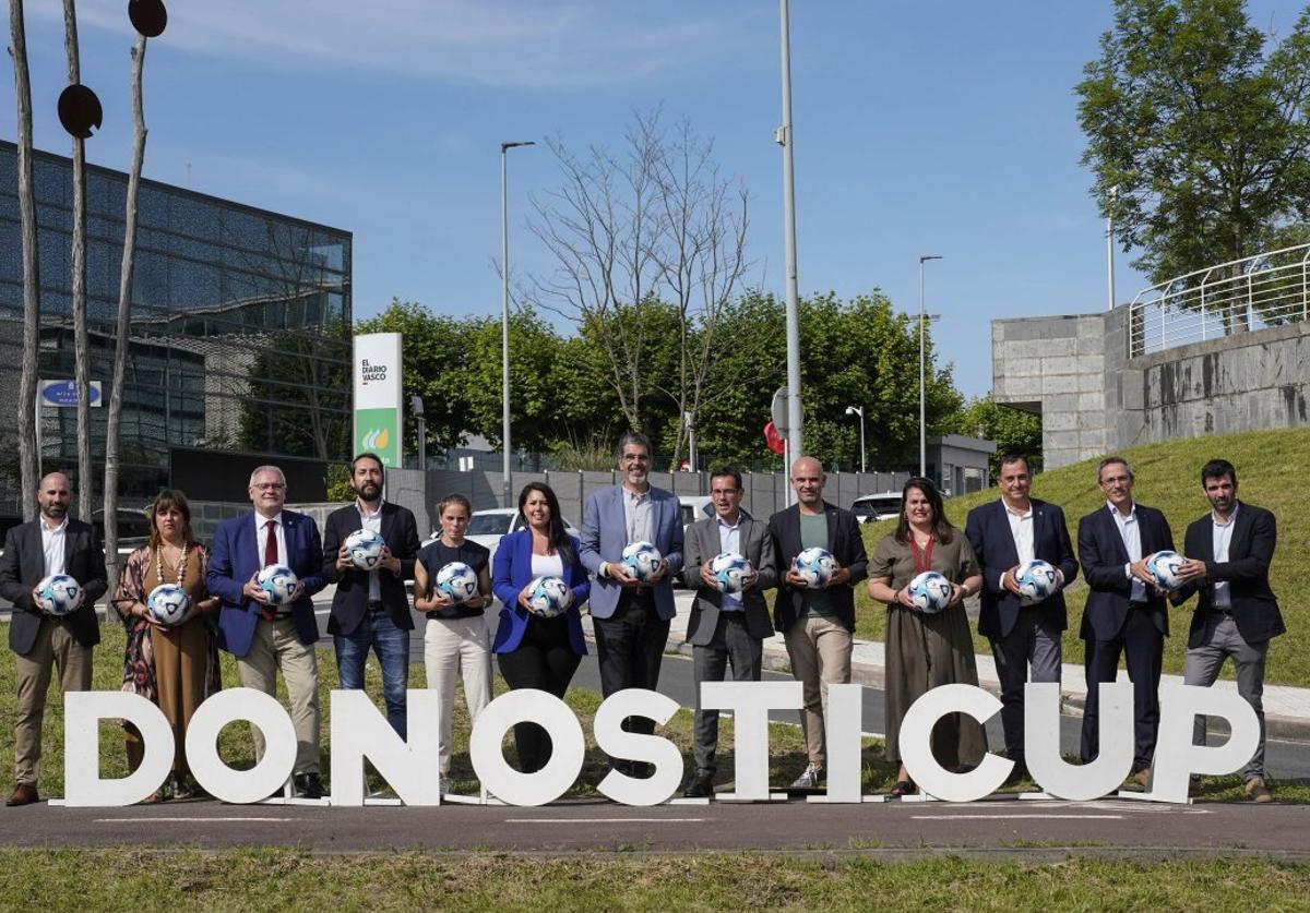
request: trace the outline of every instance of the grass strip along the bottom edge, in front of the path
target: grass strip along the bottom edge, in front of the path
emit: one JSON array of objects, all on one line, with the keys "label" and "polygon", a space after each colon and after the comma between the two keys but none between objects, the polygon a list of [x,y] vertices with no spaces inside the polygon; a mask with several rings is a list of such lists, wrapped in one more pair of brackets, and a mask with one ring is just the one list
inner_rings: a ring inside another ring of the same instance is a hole
[{"label": "grass strip along the bottom edge, in front of the path", "polygon": [[1248,858],[4,850],[0,896],[8,909],[1305,909],[1310,867]]}]

